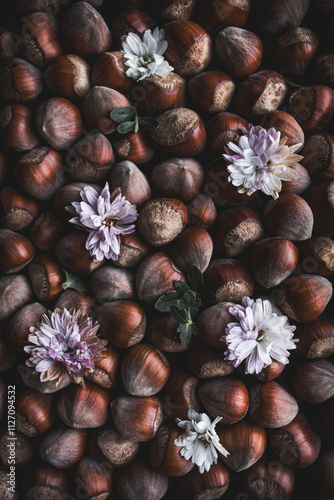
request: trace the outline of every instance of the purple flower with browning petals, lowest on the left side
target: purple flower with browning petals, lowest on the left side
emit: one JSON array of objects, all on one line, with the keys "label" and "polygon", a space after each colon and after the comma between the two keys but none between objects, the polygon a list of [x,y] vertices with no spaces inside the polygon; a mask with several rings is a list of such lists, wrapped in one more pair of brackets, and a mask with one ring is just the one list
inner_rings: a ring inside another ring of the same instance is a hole
[{"label": "purple flower with browning petals, lowest on the left side", "polygon": [[107,340],[97,337],[97,321],[81,309],[55,309],[43,314],[40,323],[32,326],[24,350],[30,355],[27,366],[40,372],[41,382],[56,381],[56,387],[67,373],[72,382],[85,386],[83,377],[94,371]]}]

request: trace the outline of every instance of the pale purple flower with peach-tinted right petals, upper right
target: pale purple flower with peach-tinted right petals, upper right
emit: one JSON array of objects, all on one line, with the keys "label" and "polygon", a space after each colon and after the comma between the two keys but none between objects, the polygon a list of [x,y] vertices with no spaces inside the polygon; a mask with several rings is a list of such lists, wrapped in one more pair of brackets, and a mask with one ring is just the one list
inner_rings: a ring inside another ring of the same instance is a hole
[{"label": "pale purple flower with peach-tinted right petals, upper right", "polygon": [[[239,193],[251,195],[257,190],[278,198],[281,181],[292,181],[298,174],[289,166],[298,163],[303,156],[295,154],[302,144],[286,146],[286,138],[275,128],[265,130],[260,126],[242,127],[243,135],[238,144],[229,142],[224,158],[231,162],[227,170],[228,180]],[[234,154],[236,153],[236,154]]]}]

